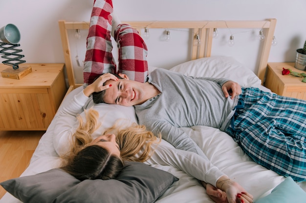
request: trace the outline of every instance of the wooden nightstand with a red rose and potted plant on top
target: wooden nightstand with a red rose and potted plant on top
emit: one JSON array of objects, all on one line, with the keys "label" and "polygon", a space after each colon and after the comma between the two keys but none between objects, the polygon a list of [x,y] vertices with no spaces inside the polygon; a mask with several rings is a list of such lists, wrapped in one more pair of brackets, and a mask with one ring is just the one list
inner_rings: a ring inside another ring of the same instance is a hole
[{"label": "wooden nightstand with a red rose and potted plant on top", "polygon": [[279,95],[306,100],[306,83],[301,77],[282,75],[283,68],[306,73],[294,68],[294,62],[268,63],[264,86]]}]

